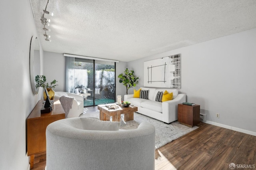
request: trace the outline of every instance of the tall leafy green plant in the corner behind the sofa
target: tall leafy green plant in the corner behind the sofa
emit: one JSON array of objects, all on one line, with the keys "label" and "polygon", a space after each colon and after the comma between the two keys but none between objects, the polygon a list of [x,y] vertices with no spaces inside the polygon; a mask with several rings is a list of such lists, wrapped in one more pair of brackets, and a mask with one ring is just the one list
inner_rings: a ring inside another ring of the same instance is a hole
[{"label": "tall leafy green plant in the corner behind the sofa", "polygon": [[133,70],[128,70],[127,68],[124,70],[124,74],[121,73],[118,75],[118,78],[120,78],[119,83],[123,83],[123,85],[126,87],[126,95],[128,95],[128,89],[135,87],[139,79],[139,77],[134,75]]}]

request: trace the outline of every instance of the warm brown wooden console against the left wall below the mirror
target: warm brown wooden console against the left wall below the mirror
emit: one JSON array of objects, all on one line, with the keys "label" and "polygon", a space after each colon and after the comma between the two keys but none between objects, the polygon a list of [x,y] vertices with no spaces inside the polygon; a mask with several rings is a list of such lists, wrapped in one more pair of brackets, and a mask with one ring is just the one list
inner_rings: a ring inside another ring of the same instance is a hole
[{"label": "warm brown wooden console against the left wall below the mirror", "polygon": [[46,127],[57,120],[65,118],[60,101],[54,102],[52,111],[42,113],[43,100],[38,101],[27,118],[27,149],[30,156],[30,168],[34,167],[35,154],[46,151]]}]

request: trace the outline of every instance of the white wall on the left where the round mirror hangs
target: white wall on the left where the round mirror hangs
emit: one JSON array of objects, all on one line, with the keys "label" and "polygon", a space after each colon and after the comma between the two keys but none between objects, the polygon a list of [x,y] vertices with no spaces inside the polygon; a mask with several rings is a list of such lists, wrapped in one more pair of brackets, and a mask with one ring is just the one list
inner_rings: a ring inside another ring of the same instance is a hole
[{"label": "white wall on the left where the round mirror hangs", "polygon": [[27,170],[26,118],[42,97],[30,84],[30,40],[37,32],[29,0],[1,1],[0,11],[0,169]]}]

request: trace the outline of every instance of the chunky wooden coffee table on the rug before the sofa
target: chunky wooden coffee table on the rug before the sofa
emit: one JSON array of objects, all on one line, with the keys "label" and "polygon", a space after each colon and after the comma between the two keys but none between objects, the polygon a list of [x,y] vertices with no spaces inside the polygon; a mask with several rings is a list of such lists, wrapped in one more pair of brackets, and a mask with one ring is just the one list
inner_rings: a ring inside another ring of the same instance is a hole
[{"label": "chunky wooden coffee table on the rug before the sofa", "polygon": [[[106,106],[115,105],[118,106],[116,109],[108,109]],[[98,105],[100,110],[100,120],[110,121],[110,116],[112,116],[112,121],[120,122],[121,114],[124,114],[124,121],[132,121],[133,113],[138,111],[138,107],[129,106],[123,107],[122,105],[116,105],[115,103]]]}]

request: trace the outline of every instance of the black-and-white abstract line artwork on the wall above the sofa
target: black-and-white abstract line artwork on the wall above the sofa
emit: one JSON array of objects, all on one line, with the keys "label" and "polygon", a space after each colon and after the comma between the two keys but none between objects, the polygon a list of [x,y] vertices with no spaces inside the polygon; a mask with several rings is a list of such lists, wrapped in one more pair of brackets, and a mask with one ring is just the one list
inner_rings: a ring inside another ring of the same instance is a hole
[{"label": "black-and-white abstract line artwork on the wall above the sofa", "polygon": [[144,61],[144,87],[181,88],[180,54]]}]

